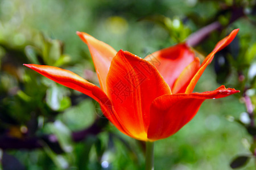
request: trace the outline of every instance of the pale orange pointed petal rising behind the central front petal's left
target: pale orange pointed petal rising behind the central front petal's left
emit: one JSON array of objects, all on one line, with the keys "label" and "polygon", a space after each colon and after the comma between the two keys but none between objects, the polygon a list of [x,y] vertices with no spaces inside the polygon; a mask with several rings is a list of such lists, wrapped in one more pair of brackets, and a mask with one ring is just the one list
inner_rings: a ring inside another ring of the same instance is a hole
[{"label": "pale orange pointed petal rising behind the central front petal's left", "polygon": [[109,73],[110,63],[117,51],[85,32],[77,32],[77,35],[88,45],[101,89],[106,93],[106,77]]}]

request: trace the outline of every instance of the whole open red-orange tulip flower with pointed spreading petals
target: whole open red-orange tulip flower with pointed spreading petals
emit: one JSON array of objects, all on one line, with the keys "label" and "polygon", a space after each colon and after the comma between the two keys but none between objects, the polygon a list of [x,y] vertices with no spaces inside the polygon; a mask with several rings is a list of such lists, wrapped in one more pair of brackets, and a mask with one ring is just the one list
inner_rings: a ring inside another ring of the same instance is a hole
[{"label": "whole open red-orange tulip flower with pointed spreading petals", "polygon": [[237,32],[235,29],[219,41],[201,65],[185,43],[159,50],[143,59],[127,51],[116,52],[87,33],[77,32],[89,47],[100,87],[68,70],[24,65],[92,97],[100,103],[104,116],[122,133],[152,143],[179,131],[192,120],[205,99],[239,92],[225,86],[214,91],[193,92],[214,54],[225,48]]}]

